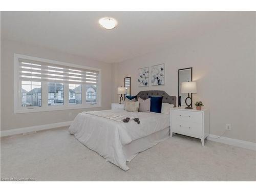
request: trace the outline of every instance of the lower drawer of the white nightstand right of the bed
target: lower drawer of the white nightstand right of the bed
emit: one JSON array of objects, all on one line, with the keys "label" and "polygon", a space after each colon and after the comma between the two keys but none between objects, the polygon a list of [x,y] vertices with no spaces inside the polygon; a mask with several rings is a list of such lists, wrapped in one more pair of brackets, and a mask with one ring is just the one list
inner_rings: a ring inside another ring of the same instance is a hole
[{"label": "lower drawer of the white nightstand right of the bed", "polygon": [[202,123],[172,119],[172,131],[174,133],[188,134],[194,137],[201,137],[203,127]]}]

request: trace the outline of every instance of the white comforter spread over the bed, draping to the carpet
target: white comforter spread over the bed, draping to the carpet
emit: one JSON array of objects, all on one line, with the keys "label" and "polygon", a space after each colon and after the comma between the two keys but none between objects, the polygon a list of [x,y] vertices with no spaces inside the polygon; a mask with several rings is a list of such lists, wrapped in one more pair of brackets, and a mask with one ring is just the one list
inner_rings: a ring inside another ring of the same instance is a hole
[{"label": "white comforter spread over the bed, draping to the carpet", "polygon": [[[119,119],[111,119],[119,117]],[[128,123],[120,118],[130,117]],[[132,118],[140,119],[137,124]],[[76,116],[69,127],[82,144],[103,156],[123,170],[128,170],[122,147],[132,141],[151,135],[170,126],[169,115],[146,112],[126,112],[120,110],[104,110],[99,112],[83,112]]]}]

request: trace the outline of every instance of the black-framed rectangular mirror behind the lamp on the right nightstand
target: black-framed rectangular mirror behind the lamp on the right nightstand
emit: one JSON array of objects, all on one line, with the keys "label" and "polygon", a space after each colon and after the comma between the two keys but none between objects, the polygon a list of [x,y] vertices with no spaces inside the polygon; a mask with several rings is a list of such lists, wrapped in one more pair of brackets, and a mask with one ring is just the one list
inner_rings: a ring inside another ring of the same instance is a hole
[{"label": "black-framed rectangular mirror behind the lamp on the right nightstand", "polygon": [[[192,81],[192,68],[184,68],[178,70],[178,106],[186,106],[185,99],[187,93],[181,93],[181,83]],[[191,94],[192,99],[192,94]]]}]

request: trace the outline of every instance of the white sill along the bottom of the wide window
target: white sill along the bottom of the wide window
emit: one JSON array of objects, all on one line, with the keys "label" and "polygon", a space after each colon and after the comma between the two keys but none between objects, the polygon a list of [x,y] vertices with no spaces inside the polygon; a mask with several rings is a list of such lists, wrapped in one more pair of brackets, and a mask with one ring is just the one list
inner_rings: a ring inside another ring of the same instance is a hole
[{"label": "white sill along the bottom of the wide window", "polygon": [[93,104],[93,105],[79,105],[79,106],[47,106],[41,107],[37,106],[33,109],[14,109],[14,114],[18,113],[34,113],[34,112],[47,112],[47,111],[61,111],[61,110],[77,110],[77,109],[90,109],[90,108],[100,108],[101,104]]}]

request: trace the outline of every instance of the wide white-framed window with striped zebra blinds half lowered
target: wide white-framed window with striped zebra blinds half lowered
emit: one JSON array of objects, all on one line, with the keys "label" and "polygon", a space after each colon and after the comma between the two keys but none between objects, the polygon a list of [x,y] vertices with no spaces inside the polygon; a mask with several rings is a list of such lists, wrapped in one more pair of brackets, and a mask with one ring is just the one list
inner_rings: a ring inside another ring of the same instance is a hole
[{"label": "wide white-framed window with striped zebra blinds half lowered", "polygon": [[14,54],[14,113],[101,106],[101,70]]}]

